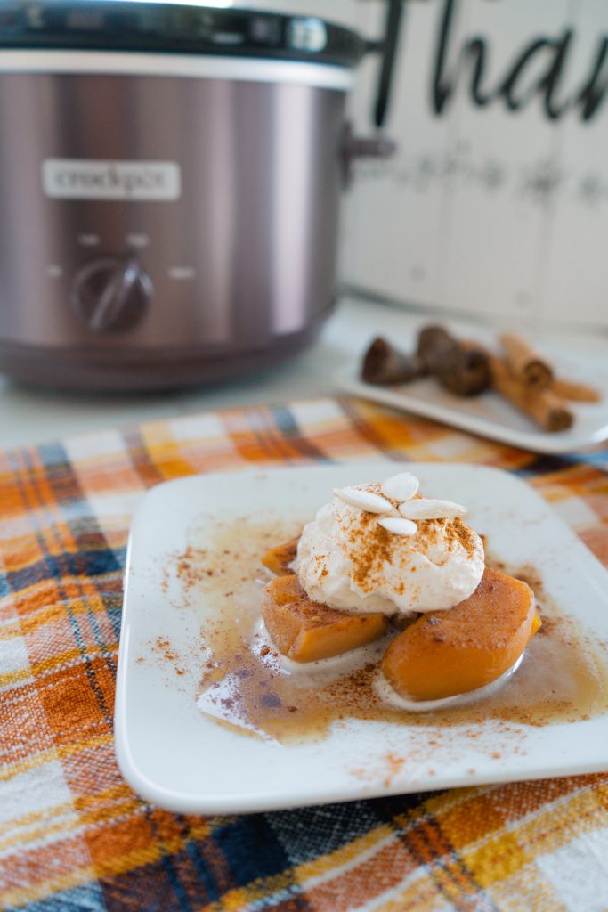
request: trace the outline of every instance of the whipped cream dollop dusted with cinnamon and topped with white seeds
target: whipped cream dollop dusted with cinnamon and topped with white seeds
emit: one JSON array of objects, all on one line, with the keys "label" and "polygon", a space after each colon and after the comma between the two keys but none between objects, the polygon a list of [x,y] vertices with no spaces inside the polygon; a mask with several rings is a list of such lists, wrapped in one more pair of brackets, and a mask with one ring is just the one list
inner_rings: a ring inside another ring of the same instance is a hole
[{"label": "whipped cream dollop dusted with cinnamon and topped with white seeds", "polygon": [[[466,509],[411,493],[417,484],[407,483],[406,475],[336,489],[331,503],[304,526],[295,570],[309,598],[345,612],[409,616],[452,608],[472,595],[483,575],[484,550],[460,518]],[[407,503],[417,509],[408,510]],[[416,522],[403,519],[404,512],[416,513]],[[386,522],[391,519],[397,523]]]}]

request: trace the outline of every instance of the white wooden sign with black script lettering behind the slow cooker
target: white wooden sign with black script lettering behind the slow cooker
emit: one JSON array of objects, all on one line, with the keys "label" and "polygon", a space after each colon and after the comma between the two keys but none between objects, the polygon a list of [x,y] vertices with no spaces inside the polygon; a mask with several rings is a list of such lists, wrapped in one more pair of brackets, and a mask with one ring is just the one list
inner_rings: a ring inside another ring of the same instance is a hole
[{"label": "white wooden sign with black script lettering behind the slow cooker", "polygon": [[[382,5],[358,7],[377,34]],[[375,88],[369,61],[361,133]],[[608,327],[606,0],[412,0],[386,132],[397,155],[361,162],[346,203],[347,282]]]}]

